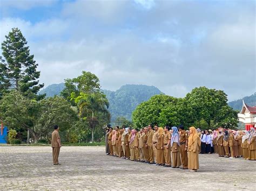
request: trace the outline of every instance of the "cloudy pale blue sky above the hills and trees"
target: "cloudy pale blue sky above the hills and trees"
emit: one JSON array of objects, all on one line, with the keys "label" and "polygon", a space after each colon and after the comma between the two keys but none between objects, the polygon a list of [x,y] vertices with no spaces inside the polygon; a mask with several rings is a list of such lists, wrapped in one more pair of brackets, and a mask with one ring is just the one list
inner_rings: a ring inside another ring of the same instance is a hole
[{"label": "cloudy pale blue sky above the hills and trees", "polygon": [[256,92],[253,0],[0,0],[0,12],[0,41],[22,31],[45,87],[85,70],[108,90]]}]

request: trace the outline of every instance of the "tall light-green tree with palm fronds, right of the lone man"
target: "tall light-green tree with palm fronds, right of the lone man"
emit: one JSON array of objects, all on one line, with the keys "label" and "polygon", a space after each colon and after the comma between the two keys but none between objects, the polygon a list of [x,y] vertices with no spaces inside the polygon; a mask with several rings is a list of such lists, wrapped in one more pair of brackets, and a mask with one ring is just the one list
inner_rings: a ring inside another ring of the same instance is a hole
[{"label": "tall light-green tree with palm fronds, right of the lone man", "polygon": [[[82,75],[72,80],[66,79],[65,86],[61,94],[70,100],[71,104],[78,107],[80,120],[86,122],[91,129],[93,142],[95,131],[99,134],[103,133],[101,127],[110,120],[110,114],[107,111],[109,102],[100,92],[99,79],[95,74],[83,71]],[[84,135],[85,133],[81,133],[77,140],[84,139]]]}]

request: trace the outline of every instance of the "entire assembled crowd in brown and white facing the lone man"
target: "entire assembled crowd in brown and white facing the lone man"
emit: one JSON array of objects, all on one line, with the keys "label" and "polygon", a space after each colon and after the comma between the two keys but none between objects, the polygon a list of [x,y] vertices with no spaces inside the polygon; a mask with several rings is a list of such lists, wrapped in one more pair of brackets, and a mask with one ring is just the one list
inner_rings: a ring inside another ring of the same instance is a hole
[{"label": "entire assembled crowd in brown and white facing the lone man", "polygon": [[[199,153],[218,153],[219,157],[256,160],[256,132],[218,130],[201,131],[193,126],[148,125],[143,129],[111,126],[106,132],[106,154],[158,166],[199,169]],[[181,166],[182,165],[182,166]]]}]

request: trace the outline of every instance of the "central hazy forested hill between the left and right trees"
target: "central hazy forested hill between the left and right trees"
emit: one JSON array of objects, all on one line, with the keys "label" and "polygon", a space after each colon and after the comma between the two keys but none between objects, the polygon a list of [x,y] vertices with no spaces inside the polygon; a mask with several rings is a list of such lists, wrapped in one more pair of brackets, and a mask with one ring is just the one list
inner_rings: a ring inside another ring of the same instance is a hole
[{"label": "central hazy forested hill between the left and right trees", "polygon": [[111,119],[123,116],[131,120],[132,111],[138,104],[149,100],[153,95],[163,94],[154,86],[127,84],[116,91],[103,90],[109,100]]}]

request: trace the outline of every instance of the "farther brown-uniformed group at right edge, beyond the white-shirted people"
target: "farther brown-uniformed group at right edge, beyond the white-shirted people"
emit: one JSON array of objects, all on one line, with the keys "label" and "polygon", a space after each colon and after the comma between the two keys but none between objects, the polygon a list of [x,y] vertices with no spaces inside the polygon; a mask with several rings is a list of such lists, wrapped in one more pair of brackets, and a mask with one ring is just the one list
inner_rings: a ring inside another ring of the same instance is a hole
[{"label": "farther brown-uniformed group at right edge, beyond the white-shirted people", "polygon": [[214,132],[214,152],[219,157],[256,160],[256,132],[254,128],[249,131],[224,130],[219,128]]}]

